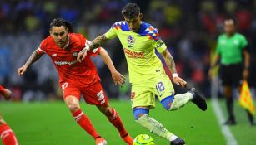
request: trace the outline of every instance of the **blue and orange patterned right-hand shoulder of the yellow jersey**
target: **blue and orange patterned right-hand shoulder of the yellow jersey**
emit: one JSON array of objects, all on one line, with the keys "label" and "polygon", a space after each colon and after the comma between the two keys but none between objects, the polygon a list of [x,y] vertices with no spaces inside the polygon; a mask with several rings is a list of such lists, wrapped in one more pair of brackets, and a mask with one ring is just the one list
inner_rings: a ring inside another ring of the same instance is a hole
[{"label": "blue and orange patterned right-hand shoulder of the yellow jersey", "polygon": [[160,39],[158,29],[147,22],[142,22],[138,30],[140,36],[148,36],[149,39],[158,41]]}]

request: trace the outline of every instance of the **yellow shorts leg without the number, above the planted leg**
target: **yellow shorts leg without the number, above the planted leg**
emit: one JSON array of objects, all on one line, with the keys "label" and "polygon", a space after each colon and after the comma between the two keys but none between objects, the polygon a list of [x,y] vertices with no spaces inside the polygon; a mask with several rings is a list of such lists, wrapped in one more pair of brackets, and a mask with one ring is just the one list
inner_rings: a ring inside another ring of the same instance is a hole
[{"label": "yellow shorts leg without the number, above the planted leg", "polygon": [[132,86],[131,93],[132,109],[135,107],[149,107],[155,108],[155,95],[153,90],[147,86]]}]

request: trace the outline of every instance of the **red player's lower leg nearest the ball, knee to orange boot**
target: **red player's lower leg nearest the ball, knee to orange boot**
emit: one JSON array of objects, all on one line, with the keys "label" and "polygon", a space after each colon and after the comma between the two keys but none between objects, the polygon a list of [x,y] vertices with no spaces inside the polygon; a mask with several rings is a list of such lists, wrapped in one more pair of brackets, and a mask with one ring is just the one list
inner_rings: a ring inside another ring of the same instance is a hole
[{"label": "red player's lower leg nearest the ball, knee to orange boot", "polygon": [[98,105],[97,107],[103,114],[107,116],[109,122],[118,129],[120,137],[123,139],[123,141],[125,143],[128,143],[128,145],[133,145],[133,138],[127,133],[126,129],[123,127],[123,123],[118,115],[118,112],[109,106]]}]

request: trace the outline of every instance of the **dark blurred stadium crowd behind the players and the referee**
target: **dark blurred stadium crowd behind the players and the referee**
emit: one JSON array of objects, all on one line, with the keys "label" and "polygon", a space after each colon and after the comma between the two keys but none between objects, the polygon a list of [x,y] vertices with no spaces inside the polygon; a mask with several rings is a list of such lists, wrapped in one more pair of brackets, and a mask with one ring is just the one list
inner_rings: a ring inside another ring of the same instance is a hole
[{"label": "dark blurred stadium crowd behind the players and the referee", "polygon": [[[235,18],[237,31],[246,36],[251,54],[249,84],[255,87],[256,0],[1,0],[0,84],[13,90],[14,100],[61,99],[58,74],[48,56],[32,65],[23,77],[16,75],[40,42],[48,36],[49,23],[63,17],[74,31],[89,40],[123,20],[127,2],[137,2],[143,21],[157,27],[171,51],[178,74],[210,96],[208,69],[216,39],[223,32],[223,20]],[[103,46],[114,65],[128,78],[123,48],[117,39]],[[129,98],[130,85],[113,85],[103,60],[93,58],[109,98]],[[170,73],[168,72],[170,75]],[[128,79],[127,79],[128,80]]]}]

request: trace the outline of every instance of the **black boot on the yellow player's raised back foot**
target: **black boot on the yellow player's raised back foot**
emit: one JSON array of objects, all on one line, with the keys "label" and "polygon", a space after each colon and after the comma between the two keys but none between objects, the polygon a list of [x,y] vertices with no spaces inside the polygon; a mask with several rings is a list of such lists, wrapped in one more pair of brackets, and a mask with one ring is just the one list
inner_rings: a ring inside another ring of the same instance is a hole
[{"label": "black boot on the yellow player's raised back foot", "polygon": [[195,88],[188,89],[188,92],[193,94],[192,102],[198,106],[199,109],[205,111],[207,109],[207,104],[203,96],[198,94],[198,91]]}]

